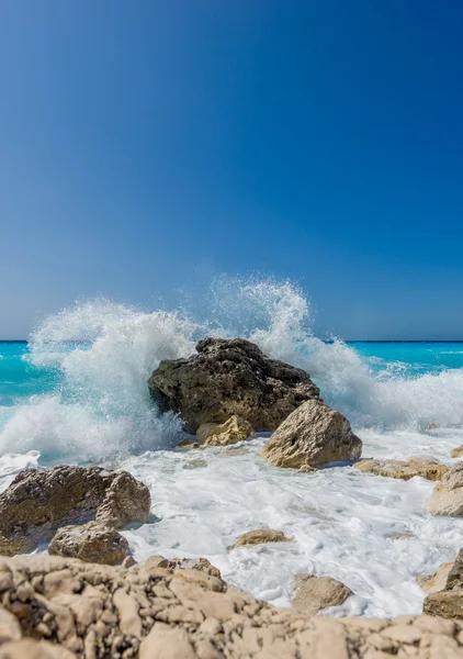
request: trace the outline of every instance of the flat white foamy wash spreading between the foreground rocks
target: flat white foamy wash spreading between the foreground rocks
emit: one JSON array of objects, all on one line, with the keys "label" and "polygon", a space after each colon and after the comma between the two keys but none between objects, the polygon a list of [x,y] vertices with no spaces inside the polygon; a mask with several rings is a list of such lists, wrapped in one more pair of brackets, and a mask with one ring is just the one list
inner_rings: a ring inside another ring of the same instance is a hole
[{"label": "flat white foamy wash spreading between the foreground rocks", "polygon": [[[366,456],[420,453],[445,461],[463,440],[462,432],[360,434]],[[275,469],[259,457],[262,444],[249,443],[252,450],[235,457],[224,457],[226,449],[207,449],[150,453],[125,461],[122,467],[149,485],[159,520],[124,532],[135,558],[202,556],[229,583],[281,606],[291,603],[294,574],[309,572],[340,579],[355,594],[331,615],[420,613],[425,593],[416,577],[453,560],[463,544],[462,521],[424,511],[434,483],[374,477],[350,467],[309,474]],[[194,467],[194,459],[207,465]],[[266,527],[283,530],[295,543],[228,552],[241,534]],[[385,537],[407,532],[414,537]]]}]

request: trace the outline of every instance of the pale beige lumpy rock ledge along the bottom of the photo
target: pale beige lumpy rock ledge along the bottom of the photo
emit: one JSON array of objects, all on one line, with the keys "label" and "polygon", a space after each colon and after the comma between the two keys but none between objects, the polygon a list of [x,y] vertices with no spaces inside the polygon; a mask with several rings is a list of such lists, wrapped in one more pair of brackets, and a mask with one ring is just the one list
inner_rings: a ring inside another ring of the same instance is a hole
[{"label": "pale beige lumpy rock ledge along the bottom of the photo", "polygon": [[0,559],[0,659],[463,657],[452,621],[314,617],[196,570]]}]

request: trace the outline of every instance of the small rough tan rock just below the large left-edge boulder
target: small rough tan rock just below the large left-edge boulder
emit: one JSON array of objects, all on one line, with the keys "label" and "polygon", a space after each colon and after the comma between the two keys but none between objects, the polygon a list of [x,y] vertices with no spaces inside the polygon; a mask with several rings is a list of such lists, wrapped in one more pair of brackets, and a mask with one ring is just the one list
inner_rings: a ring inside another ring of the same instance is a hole
[{"label": "small rough tan rock just below the large left-edge boulder", "polygon": [[128,541],[115,528],[89,522],[82,526],[64,526],[48,546],[52,556],[79,558],[87,562],[118,566],[131,555]]}]

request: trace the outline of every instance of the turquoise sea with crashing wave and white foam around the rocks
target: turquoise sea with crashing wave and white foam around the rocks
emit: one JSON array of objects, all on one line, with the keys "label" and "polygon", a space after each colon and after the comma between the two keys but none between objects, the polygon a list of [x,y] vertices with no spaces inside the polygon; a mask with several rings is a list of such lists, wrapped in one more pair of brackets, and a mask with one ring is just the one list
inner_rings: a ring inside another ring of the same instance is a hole
[{"label": "turquoise sea with crashing wave and white foam around the rocks", "polygon": [[[463,546],[462,521],[424,511],[432,483],[350,466],[276,469],[260,458],[263,436],[238,451],[174,449],[181,421],[159,416],[149,400],[147,379],[161,359],[191,355],[203,336],[245,336],[310,373],[350,418],[364,457],[454,462],[463,343],[321,342],[312,324],[302,292],[271,280],[216,281],[176,311],[105,300],[61,310],[29,343],[0,343],[0,489],[22,469],[57,462],[127,469],[153,499],[154,522],[124,532],[137,560],[203,556],[229,583],[282,606],[291,605],[295,573],[335,577],[354,593],[329,611],[335,616],[420,612],[416,577]],[[229,551],[257,527],[295,541]]]}]

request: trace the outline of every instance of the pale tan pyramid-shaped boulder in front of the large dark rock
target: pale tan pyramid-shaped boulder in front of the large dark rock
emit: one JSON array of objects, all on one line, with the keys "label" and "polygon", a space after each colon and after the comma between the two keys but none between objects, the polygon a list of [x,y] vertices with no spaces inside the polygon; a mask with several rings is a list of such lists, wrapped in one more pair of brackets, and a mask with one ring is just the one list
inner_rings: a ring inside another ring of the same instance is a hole
[{"label": "pale tan pyramid-shaped boulder in front of the large dark rock", "polygon": [[324,403],[303,403],[278,427],[262,449],[274,467],[300,468],[354,460],[362,453],[362,442],[350,423]]}]

